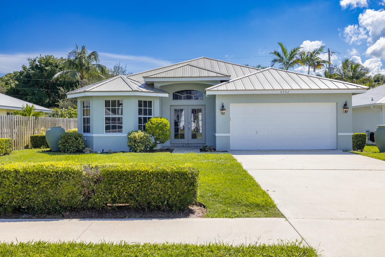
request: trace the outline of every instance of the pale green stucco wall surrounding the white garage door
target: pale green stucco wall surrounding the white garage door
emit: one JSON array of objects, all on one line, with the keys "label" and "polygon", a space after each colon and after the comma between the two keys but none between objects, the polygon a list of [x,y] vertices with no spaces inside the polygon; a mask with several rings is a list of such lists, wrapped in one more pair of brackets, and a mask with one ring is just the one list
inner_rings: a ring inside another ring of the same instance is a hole
[{"label": "pale green stucco wall surrounding the white garage door", "polygon": [[[352,106],[351,93],[338,94],[236,94],[236,95],[216,95],[215,119],[216,134],[230,133],[230,103],[295,103],[295,102],[335,102],[336,103],[336,131],[338,133],[352,133],[352,111],[343,113],[342,107],[345,101],[348,106]],[[221,115],[222,103],[226,108],[226,114]],[[230,136],[216,136],[215,146],[217,150],[228,151],[230,149]],[[337,135],[337,149],[352,149],[352,136]]]}]

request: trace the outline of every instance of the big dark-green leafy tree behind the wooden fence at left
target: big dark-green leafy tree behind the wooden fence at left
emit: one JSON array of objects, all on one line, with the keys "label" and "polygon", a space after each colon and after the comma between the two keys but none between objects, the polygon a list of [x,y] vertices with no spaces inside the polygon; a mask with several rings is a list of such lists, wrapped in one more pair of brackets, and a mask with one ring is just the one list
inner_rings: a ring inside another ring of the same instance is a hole
[{"label": "big dark-green leafy tree behind the wooden fence at left", "polygon": [[28,59],[28,65],[23,65],[20,71],[0,78],[4,93],[47,108],[57,106],[61,99],[67,98],[66,92],[80,86],[76,81],[52,80],[52,76],[64,69],[58,60],[53,55]]}]

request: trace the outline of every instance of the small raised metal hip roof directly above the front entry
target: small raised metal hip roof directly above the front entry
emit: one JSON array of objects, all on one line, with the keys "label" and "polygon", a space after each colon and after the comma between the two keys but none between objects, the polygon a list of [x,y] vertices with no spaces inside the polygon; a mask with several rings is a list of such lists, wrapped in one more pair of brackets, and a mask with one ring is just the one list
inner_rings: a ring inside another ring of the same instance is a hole
[{"label": "small raised metal hip roof directly above the front entry", "polygon": [[230,75],[187,63],[149,74],[144,78],[149,77],[230,77]]}]

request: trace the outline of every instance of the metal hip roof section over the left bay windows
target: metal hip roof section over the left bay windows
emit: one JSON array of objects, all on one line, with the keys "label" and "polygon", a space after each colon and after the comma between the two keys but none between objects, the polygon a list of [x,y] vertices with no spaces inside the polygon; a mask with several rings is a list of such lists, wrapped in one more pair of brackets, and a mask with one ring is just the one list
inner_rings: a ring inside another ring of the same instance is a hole
[{"label": "metal hip roof section over the left bay windows", "polygon": [[118,75],[104,81],[100,81],[89,86],[75,89],[67,94],[75,94],[80,92],[110,92],[110,91],[135,91],[135,92],[154,92],[167,93],[162,89],[148,87],[146,84],[134,81],[124,75]]}]

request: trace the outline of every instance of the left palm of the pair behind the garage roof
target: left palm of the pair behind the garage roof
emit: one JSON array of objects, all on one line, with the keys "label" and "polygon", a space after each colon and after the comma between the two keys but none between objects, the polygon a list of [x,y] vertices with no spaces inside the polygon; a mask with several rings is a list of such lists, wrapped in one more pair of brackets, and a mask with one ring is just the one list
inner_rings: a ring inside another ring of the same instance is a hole
[{"label": "left palm of the pair behind the garage roof", "polygon": [[280,69],[288,70],[301,64],[298,55],[300,54],[302,47],[297,46],[289,51],[285,45],[282,44],[282,42],[278,42],[278,45],[281,47],[281,52],[277,50],[270,52],[270,54],[275,56],[273,60],[271,60],[271,67],[273,67],[275,64],[279,64]]}]

